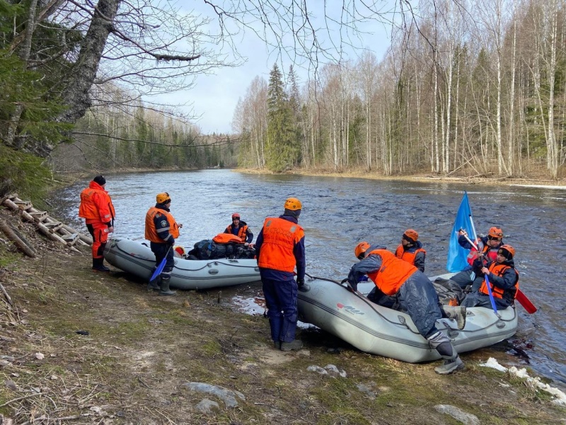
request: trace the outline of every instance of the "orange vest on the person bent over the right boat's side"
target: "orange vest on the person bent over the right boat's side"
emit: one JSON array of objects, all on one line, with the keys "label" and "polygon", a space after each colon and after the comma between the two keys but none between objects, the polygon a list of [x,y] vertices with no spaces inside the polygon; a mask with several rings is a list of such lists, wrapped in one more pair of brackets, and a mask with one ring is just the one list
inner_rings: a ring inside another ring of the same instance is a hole
[{"label": "orange vest on the person bent over the right boat's side", "polygon": [[374,249],[366,256],[371,254],[381,256],[381,267],[378,271],[367,273],[367,276],[386,295],[395,295],[403,283],[405,283],[405,280],[417,271],[415,266],[407,261],[398,259],[395,254],[386,249]]}]

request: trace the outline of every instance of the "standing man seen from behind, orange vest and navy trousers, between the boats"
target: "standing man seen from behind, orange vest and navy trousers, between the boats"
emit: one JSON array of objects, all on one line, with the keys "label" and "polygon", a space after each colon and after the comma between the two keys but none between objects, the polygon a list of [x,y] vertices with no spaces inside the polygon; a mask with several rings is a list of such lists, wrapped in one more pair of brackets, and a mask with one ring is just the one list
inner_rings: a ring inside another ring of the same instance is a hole
[{"label": "standing man seen from behind, orange vest and navy trousers, between the boats", "polygon": [[282,351],[303,346],[295,339],[297,290],[305,283],[305,233],[298,224],[302,208],[300,200],[287,199],[283,215],[267,217],[255,241],[271,338],[275,348]]}]

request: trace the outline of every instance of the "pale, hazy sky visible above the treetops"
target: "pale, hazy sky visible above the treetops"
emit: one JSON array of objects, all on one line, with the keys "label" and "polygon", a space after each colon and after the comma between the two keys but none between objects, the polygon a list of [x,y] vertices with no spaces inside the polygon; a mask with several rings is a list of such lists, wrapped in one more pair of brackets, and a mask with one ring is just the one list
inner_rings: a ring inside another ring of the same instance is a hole
[{"label": "pale, hazy sky visible above the treetops", "polygon": [[[322,16],[323,2],[311,1],[315,6],[313,11]],[[336,4],[337,10],[340,10],[342,0],[326,0],[326,4],[327,8],[332,8],[331,6]],[[310,5],[311,2],[309,2],[309,7]],[[317,9],[318,5],[320,6]],[[202,9],[200,12],[206,14],[209,13],[209,10]],[[328,27],[320,23],[320,28]],[[364,39],[356,41],[356,44],[373,51],[378,60],[381,60],[390,45],[391,28],[371,21],[365,24],[364,30],[371,34],[364,35]],[[286,42],[290,40],[287,37]],[[204,134],[232,132],[231,122],[236,104],[238,99],[246,96],[246,91],[253,79],[257,76],[269,79],[270,70],[276,61],[278,61],[279,69],[285,74],[292,63],[288,58],[278,60],[277,55],[273,53],[270,55],[265,42],[251,31],[246,31],[241,36],[238,42],[238,52],[246,58],[245,64],[235,68],[216,69],[214,75],[199,75],[192,88],[160,96],[158,100],[168,104],[184,105],[181,110],[198,117],[194,121]],[[352,50],[350,55],[355,60],[357,53]],[[294,66],[294,69],[298,74],[299,84],[304,84],[308,79],[308,72],[302,67]]]}]

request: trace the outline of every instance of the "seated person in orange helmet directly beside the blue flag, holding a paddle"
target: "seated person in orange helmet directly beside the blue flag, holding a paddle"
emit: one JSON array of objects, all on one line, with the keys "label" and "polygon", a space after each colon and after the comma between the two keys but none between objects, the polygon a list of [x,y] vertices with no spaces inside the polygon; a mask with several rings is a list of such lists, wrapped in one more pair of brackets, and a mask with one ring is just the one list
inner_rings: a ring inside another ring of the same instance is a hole
[{"label": "seated person in orange helmet directly beside the blue flag, holding a paddle", "polygon": [[458,283],[460,288],[466,288],[472,285],[472,292],[477,291],[483,282],[482,268],[485,261],[495,261],[497,257],[497,250],[503,244],[503,230],[501,227],[490,227],[487,236],[478,237],[475,241],[475,246],[478,246],[479,252],[468,241],[468,232],[461,229],[458,232],[458,244],[464,249],[469,249],[468,263],[470,267],[460,273],[456,273],[450,278]]}]

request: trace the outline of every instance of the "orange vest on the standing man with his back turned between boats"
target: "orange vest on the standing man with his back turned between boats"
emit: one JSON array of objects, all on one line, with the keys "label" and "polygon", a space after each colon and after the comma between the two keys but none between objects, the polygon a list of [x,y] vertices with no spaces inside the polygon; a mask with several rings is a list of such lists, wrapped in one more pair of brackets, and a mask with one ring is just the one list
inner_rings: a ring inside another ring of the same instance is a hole
[{"label": "orange vest on the standing man with his back turned between boats", "polygon": [[258,266],[279,271],[294,271],[295,244],[305,236],[303,228],[282,218],[267,217],[263,223],[263,244]]}]

